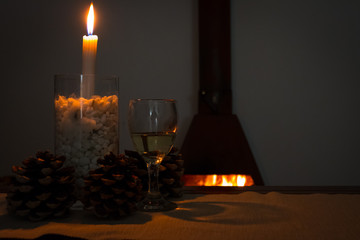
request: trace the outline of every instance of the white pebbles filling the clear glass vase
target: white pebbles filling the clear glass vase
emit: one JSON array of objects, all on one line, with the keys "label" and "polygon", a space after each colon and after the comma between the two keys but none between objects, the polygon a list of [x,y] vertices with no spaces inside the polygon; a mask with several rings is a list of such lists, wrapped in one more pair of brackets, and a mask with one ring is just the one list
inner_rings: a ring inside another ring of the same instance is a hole
[{"label": "white pebbles filling the clear glass vase", "polygon": [[66,156],[66,165],[75,167],[79,182],[97,159],[118,153],[118,97],[55,99],[55,152]]}]

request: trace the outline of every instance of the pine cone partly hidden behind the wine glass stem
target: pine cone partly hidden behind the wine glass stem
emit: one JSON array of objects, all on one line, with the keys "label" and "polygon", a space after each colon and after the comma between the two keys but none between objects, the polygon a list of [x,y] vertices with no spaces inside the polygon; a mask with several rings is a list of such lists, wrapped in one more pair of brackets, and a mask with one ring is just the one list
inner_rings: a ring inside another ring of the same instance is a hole
[{"label": "pine cone partly hidden behind the wine glass stem", "polygon": [[[172,148],[160,164],[159,188],[164,197],[177,198],[183,195],[184,183],[181,181],[181,178],[184,175],[184,160],[181,159],[181,154],[176,154],[176,152],[177,149]],[[138,160],[138,176],[143,181],[143,185],[147,186],[148,176],[145,161],[140,154],[135,151],[125,150],[125,154],[130,158]],[[147,188],[145,187],[143,190],[147,191]]]}]

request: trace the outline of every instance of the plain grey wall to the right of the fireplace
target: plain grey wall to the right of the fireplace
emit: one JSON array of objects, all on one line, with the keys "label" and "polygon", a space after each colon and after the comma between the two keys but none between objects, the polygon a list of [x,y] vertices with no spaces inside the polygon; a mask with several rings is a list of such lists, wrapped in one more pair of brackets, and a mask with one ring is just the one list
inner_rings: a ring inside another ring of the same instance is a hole
[{"label": "plain grey wall to the right of the fireplace", "polygon": [[234,109],[267,184],[360,184],[359,13],[232,1]]}]

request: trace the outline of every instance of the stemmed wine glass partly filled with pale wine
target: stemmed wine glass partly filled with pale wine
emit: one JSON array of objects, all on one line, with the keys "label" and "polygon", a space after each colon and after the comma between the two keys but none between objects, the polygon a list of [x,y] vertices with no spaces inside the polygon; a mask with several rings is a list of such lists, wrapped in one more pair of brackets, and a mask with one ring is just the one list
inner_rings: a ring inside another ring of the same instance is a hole
[{"label": "stemmed wine glass partly filled with pale wine", "polygon": [[129,130],[136,151],[146,162],[147,196],[139,202],[142,211],[166,211],[176,204],[161,196],[159,166],[171,150],[177,130],[176,102],[173,99],[133,99],[129,103]]}]

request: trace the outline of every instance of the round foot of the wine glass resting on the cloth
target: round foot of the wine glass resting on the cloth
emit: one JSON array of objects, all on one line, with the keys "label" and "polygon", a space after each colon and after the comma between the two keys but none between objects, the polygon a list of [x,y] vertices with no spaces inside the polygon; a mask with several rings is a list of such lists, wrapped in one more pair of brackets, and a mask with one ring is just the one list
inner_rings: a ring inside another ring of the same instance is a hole
[{"label": "round foot of the wine glass resting on the cloth", "polygon": [[163,212],[177,208],[176,203],[170,202],[163,197],[158,199],[146,197],[137,205],[138,209],[143,212]]}]

